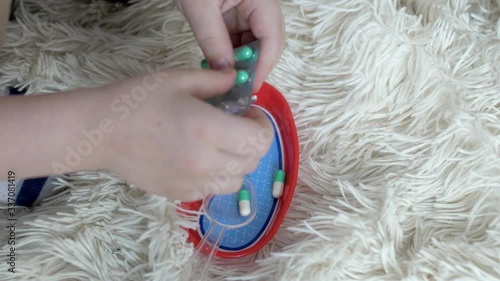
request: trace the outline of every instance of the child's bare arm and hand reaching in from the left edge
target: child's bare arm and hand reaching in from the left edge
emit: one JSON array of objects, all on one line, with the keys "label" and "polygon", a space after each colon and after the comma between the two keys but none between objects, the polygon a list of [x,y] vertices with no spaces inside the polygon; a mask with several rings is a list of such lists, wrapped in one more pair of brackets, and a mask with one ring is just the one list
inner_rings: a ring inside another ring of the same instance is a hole
[{"label": "child's bare arm and hand reaching in from the left edge", "polygon": [[237,191],[274,134],[260,111],[238,117],[203,101],[226,93],[235,77],[171,70],[96,89],[0,97],[0,180],[10,170],[31,178],[105,169],[170,199]]}]

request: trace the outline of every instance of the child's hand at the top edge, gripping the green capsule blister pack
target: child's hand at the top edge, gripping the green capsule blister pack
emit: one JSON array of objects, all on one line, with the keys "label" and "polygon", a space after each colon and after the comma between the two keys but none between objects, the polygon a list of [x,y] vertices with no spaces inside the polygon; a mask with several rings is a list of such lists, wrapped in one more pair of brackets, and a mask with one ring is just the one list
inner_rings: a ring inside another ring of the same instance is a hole
[{"label": "child's hand at the top edge, gripping the green capsule blister pack", "polygon": [[[255,75],[258,90],[281,56],[285,27],[278,0],[175,0],[214,69],[234,64],[233,47],[262,42]],[[232,44],[231,44],[232,43]]]}]

